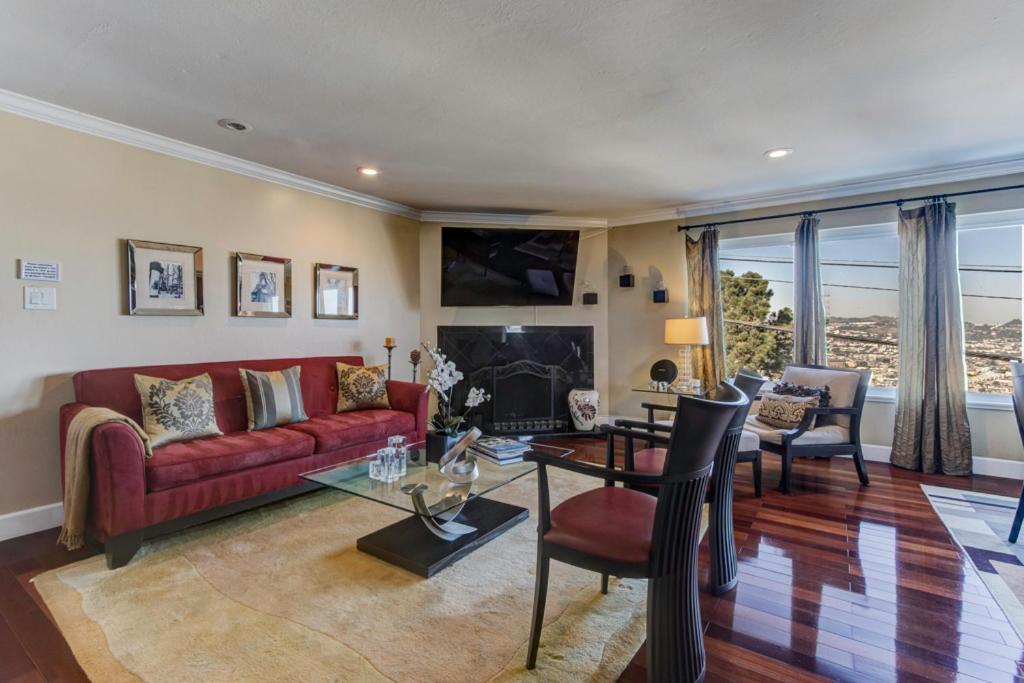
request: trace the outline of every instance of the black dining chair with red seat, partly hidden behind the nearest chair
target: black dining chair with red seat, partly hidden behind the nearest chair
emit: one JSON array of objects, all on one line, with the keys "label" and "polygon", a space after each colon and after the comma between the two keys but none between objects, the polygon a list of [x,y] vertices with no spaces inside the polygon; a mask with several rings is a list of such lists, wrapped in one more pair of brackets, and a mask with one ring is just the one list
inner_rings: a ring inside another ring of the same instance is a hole
[{"label": "black dining chair with red seat, partly hidden behind the nearest chair", "polygon": [[[736,470],[736,456],[743,441],[743,424],[750,412],[751,401],[757,397],[758,390],[767,380],[755,375],[737,374],[732,380],[727,381],[746,396],[748,402],[736,411],[722,437],[718,453],[715,455],[711,483],[708,486],[708,502],[711,504],[708,519],[708,544],[711,550],[710,589],[715,595],[728,593],[736,587],[739,570],[736,564],[736,539],[732,528],[732,484]],[[669,409],[662,407],[662,410]],[[651,431],[671,430],[671,428],[657,423],[634,420],[618,420],[615,425],[628,430],[608,434],[609,439],[615,435],[626,438],[623,466],[627,472],[657,474],[664,471],[667,456],[664,447],[635,451],[633,442],[635,439],[649,441]],[[658,492],[654,488],[646,489],[646,493],[656,496]]]}]

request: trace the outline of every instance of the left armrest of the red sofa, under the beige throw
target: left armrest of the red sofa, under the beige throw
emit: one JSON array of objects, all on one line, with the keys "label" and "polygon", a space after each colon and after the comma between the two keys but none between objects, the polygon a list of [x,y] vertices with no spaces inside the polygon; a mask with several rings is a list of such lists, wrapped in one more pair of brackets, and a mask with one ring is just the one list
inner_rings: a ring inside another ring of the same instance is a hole
[{"label": "left armrest of the red sofa, under the beige throw", "polygon": [[[85,408],[60,408],[61,484],[68,426]],[[89,527],[99,541],[145,526],[145,451],[130,427],[108,423],[92,431],[89,474]]]}]

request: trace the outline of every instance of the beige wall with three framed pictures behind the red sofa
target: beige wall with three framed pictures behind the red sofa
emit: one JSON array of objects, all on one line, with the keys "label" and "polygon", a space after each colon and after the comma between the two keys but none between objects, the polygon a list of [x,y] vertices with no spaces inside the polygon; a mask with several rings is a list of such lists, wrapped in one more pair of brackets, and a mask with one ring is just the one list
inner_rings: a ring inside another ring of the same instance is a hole
[{"label": "beige wall with three framed pictures behind the red sofa", "polygon": [[[0,514],[59,500],[75,371],[357,353],[417,340],[419,222],[0,115]],[[122,239],[204,248],[206,315],[123,313]],[[232,317],[236,250],[293,259],[289,319]],[[58,309],[23,310],[16,259],[60,261]],[[312,264],[359,268],[359,321],[312,319]]]}]

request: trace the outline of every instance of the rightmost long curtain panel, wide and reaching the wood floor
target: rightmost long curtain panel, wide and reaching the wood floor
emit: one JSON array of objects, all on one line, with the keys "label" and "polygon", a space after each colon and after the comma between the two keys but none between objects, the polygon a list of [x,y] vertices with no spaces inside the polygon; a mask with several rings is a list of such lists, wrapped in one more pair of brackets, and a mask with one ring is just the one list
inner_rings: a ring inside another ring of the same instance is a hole
[{"label": "rightmost long curtain panel, wide and reaching the wood floor", "polygon": [[899,212],[899,398],[891,462],[971,474],[956,205]]}]

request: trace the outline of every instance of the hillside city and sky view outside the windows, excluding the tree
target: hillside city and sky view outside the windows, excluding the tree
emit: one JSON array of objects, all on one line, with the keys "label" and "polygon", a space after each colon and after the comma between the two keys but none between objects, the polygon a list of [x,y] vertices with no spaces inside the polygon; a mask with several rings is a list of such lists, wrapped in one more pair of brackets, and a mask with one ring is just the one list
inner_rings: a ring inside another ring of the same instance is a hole
[{"label": "hillside city and sky view outside the windows, excluding the tree", "polygon": [[[1009,359],[1020,358],[1022,352],[1022,231],[1021,225],[1012,224],[958,232],[970,391],[1008,393],[1012,389]],[[871,368],[873,386],[895,386],[899,305],[896,226],[840,228],[822,230],[820,234],[829,365]],[[781,330],[792,326],[792,236],[779,236],[776,241],[723,240],[720,260],[724,281],[768,281],[768,316],[777,316],[785,309],[790,309],[791,316],[778,316],[782,322],[771,334],[775,335],[779,352],[792,353],[792,334]],[[767,321],[766,316],[765,321],[750,322]],[[741,334],[740,327],[745,326],[727,325],[727,347],[730,337]],[[736,342],[743,347],[738,337]]]}]

